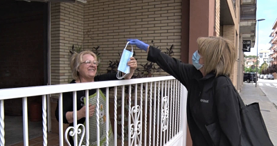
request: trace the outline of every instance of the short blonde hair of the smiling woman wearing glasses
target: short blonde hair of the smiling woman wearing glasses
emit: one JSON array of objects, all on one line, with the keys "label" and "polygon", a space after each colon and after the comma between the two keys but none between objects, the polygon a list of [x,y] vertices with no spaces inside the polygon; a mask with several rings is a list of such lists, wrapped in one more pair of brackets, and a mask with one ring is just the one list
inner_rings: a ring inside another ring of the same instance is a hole
[{"label": "short blonde hair of the smiling woman wearing glasses", "polygon": [[94,60],[97,61],[97,56],[92,51],[82,51],[80,53],[74,52],[73,55],[71,55],[70,68],[71,68],[71,74],[72,74],[72,77],[74,80],[77,80],[79,77],[78,69],[79,69],[80,64],[82,64],[82,62],[84,62],[84,60],[82,60],[82,57],[86,54],[93,56]]}]

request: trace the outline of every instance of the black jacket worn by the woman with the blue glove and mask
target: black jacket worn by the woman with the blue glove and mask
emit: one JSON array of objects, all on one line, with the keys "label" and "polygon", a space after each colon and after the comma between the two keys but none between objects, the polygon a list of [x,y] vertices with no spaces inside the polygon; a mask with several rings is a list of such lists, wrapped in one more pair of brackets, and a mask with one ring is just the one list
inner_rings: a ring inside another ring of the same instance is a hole
[{"label": "black jacket worn by the woman with the blue glove and mask", "polygon": [[203,77],[192,64],[183,64],[153,46],[148,61],[157,63],[186,86],[188,127],[194,146],[240,145],[238,98],[228,78],[215,80],[215,73]]}]

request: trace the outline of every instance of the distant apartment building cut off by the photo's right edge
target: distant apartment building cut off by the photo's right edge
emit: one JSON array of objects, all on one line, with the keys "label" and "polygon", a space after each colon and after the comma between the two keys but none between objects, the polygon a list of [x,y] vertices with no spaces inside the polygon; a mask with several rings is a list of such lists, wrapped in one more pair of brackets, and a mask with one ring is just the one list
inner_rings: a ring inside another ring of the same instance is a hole
[{"label": "distant apartment building cut off by the photo's right edge", "polygon": [[272,26],[272,33],[269,35],[271,37],[271,40],[269,44],[271,44],[271,47],[269,50],[272,51],[270,57],[271,57],[271,64],[277,64],[277,19],[274,22]]}]

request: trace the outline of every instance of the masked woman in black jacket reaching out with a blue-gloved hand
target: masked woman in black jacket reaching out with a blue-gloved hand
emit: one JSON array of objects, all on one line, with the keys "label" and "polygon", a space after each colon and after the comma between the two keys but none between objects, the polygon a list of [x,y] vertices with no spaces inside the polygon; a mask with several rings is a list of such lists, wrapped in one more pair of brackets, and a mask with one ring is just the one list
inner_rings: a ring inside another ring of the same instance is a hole
[{"label": "masked woman in black jacket reaching out with a blue-gloved hand", "polygon": [[188,127],[194,146],[240,145],[239,104],[229,79],[237,59],[232,42],[222,37],[199,37],[193,64],[183,64],[139,39],[127,41],[147,51],[148,61],[186,86]]}]

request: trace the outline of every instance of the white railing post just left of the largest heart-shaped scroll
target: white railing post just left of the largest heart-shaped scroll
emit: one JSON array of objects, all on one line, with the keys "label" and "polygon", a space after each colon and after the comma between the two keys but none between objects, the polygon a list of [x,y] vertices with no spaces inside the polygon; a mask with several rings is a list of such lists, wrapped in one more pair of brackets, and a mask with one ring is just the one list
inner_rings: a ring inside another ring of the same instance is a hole
[{"label": "white railing post just left of the largest heart-shaped scroll", "polygon": [[60,146],[64,145],[64,125],[63,125],[63,107],[62,107],[62,93],[59,94],[59,134],[60,134]]}]

